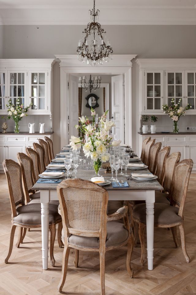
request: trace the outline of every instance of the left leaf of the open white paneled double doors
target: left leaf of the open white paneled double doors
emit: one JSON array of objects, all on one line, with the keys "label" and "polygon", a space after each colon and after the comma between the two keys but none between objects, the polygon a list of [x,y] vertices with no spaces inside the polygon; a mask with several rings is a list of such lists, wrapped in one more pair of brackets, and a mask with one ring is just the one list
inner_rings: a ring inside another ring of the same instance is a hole
[{"label": "left leaf of the open white paneled double doors", "polygon": [[75,125],[78,124],[78,78],[69,75],[69,140],[71,135],[78,136]]}]

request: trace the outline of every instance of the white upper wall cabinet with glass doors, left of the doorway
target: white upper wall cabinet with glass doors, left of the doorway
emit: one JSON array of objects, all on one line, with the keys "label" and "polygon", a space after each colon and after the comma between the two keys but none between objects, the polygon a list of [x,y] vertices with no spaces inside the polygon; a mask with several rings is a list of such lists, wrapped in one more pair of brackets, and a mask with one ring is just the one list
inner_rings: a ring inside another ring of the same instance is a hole
[{"label": "white upper wall cabinet with glass doors, left of the doorway", "polygon": [[52,114],[53,59],[0,59],[0,113],[17,98],[33,115]]}]

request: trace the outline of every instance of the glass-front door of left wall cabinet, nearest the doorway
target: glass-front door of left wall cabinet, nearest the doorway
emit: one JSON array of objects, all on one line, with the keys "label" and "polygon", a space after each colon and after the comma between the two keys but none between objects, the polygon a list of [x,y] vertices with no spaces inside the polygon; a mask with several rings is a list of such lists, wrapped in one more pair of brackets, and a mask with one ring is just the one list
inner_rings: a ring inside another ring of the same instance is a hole
[{"label": "glass-front door of left wall cabinet, nearest the doorway", "polygon": [[47,71],[29,71],[30,112],[47,112]]}]

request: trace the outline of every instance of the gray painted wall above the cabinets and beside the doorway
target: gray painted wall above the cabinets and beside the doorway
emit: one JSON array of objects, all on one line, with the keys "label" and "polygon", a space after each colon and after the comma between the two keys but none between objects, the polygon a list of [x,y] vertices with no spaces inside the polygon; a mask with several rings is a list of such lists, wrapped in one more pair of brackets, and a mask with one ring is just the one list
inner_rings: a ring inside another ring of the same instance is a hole
[{"label": "gray painted wall above the cabinets and beside the doorway", "polygon": [[[196,58],[196,26],[103,26],[114,54],[138,58]],[[0,58],[53,58],[75,54],[84,26],[0,26]],[[133,61],[133,148],[138,148],[138,66]],[[54,65],[53,128],[60,146],[59,67]]]}]

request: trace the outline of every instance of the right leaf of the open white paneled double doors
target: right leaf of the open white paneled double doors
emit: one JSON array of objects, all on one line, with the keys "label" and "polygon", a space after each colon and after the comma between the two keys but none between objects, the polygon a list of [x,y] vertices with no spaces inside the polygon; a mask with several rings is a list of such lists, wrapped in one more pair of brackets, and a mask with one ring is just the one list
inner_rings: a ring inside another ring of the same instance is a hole
[{"label": "right leaf of the open white paneled double doors", "polygon": [[112,132],[116,133],[116,138],[124,144],[124,75],[111,77],[111,111],[116,127]]}]

